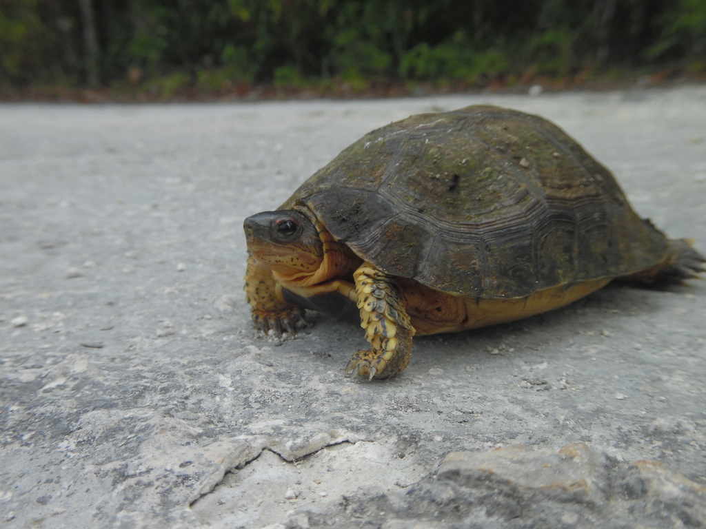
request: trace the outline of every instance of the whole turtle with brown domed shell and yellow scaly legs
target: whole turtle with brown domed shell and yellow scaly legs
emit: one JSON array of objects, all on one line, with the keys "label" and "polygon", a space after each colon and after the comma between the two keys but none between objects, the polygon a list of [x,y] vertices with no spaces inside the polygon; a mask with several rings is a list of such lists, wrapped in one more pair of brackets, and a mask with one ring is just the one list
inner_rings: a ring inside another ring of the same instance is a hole
[{"label": "whole turtle with brown domed shell and yellow scaly legs", "polygon": [[306,309],[360,322],[370,349],[345,375],[369,379],[405,370],[415,335],[705,272],[693,241],[638,217],[561,128],[489,105],[373,130],[244,231],[255,327],[294,334]]}]

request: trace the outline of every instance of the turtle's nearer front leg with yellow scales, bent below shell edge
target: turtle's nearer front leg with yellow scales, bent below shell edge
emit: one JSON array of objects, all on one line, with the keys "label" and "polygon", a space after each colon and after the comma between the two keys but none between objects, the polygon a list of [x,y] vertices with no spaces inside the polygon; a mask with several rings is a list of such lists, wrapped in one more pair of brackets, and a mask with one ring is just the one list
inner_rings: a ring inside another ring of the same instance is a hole
[{"label": "turtle's nearer front leg with yellow scales, bent below shell edge", "polygon": [[360,326],[370,342],[370,351],[358,351],[346,366],[346,376],[357,371],[369,379],[387,378],[405,370],[412,355],[414,327],[402,302],[395,279],[363,263],[353,273],[360,309]]}]

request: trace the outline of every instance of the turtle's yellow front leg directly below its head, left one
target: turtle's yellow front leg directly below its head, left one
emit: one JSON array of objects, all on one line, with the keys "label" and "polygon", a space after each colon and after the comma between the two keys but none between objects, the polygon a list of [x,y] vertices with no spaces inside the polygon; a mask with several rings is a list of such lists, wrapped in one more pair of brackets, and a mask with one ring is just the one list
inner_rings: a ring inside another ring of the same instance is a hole
[{"label": "turtle's yellow front leg directly below its head, left one", "polygon": [[282,300],[280,287],[272,276],[272,270],[258,265],[252,256],[248,257],[244,279],[243,290],[252,308],[256,329],[265,334],[273,329],[277,336],[282,336],[282,330],[294,335],[297,323],[306,324],[304,309]]}]

